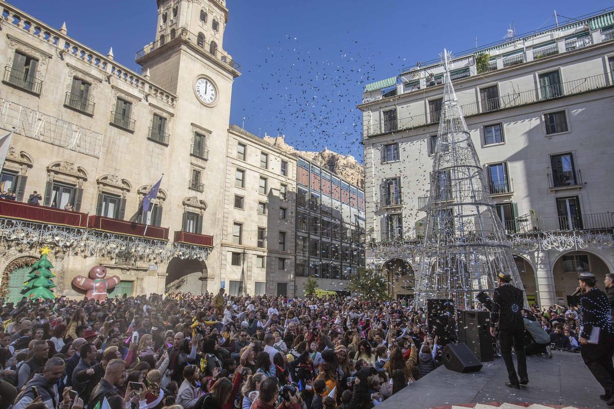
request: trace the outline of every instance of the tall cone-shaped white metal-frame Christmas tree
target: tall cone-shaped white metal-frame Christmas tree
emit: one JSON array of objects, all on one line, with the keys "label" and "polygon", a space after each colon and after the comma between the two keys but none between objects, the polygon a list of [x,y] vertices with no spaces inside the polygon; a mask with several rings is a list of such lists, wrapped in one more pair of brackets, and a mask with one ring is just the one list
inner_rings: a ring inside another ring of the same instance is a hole
[{"label": "tall cone-shaped white metal-frame Christmas tree", "polygon": [[446,50],[442,59],[443,104],[414,302],[453,299],[455,307],[471,308],[478,292],[496,288],[499,272],[523,285],[454,93]]}]

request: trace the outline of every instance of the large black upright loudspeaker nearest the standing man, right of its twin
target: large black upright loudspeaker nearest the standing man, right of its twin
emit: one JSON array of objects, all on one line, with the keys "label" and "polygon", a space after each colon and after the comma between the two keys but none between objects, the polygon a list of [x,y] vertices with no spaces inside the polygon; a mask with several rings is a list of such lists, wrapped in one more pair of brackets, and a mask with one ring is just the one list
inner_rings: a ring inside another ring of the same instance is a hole
[{"label": "large black upright loudspeaker nearest the standing man, right of its twin", "polygon": [[493,360],[490,313],[487,311],[461,311],[459,313],[459,342],[468,348],[481,362]]}]

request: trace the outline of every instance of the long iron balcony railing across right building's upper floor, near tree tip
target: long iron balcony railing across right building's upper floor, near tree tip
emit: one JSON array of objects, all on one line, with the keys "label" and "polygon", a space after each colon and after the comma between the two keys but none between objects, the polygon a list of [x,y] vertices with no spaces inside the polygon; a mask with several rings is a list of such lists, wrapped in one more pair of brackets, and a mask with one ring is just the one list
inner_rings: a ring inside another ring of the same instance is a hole
[{"label": "long iron balcony railing across right building's upper floor, near tree tip", "polygon": [[[510,109],[522,105],[534,104],[544,101],[545,99],[553,99],[555,97],[566,97],[574,94],[585,93],[587,91],[600,90],[612,86],[609,79],[610,72],[591,77],[578,78],[577,80],[567,81],[560,84],[554,84],[547,87],[531,88],[526,91],[519,91],[500,95],[499,97],[491,98],[484,101],[469,102],[461,105],[463,115],[472,117],[480,115],[484,112],[492,112],[495,110]],[[546,92],[542,92],[542,90]],[[418,128],[428,124],[438,123],[441,117],[441,111],[430,111],[429,113],[421,113],[411,117],[398,118],[396,124],[391,124],[394,121],[381,121],[373,124],[365,125],[363,129],[363,137],[371,137],[389,132],[403,131],[405,129]]]}]

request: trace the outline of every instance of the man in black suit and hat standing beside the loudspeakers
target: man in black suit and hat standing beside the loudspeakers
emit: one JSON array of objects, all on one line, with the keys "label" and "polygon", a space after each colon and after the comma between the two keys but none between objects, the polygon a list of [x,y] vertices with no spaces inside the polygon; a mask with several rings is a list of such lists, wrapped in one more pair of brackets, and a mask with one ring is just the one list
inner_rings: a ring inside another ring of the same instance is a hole
[{"label": "man in black suit and hat standing beside the loudspeakers", "polygon": [[[510,284],[511,276],[500,272],[498,277],[499,288],[495,288],[492,295],[491,335],[495,337],[495,324],[499,323],[499,342],[501,354],[510,381],[505,385],[520,389],[520,385],[529,383],[527,375],[527,357],[524,352],[524,321],[521,310],[524,306],[523,290]],[[518,375],[511,357],[511,346],[516,350],[518,362]],[[520,379],[518,379],[520,376]]]}]

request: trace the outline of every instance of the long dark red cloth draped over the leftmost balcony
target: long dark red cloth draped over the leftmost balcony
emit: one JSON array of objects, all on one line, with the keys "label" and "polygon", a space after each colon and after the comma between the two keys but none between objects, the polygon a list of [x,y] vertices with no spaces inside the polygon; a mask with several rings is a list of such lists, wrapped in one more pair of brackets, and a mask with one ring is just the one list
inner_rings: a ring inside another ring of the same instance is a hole
[{"label": "long dark red cloth draped over the leftmost balcony", "polygon": [[0,199],[0,217],[36,223],[57,224],[58,226],[87,227],[87,214],[70,212],[55,207],[31,205]]}]

